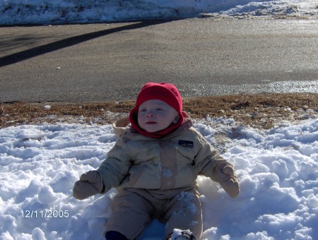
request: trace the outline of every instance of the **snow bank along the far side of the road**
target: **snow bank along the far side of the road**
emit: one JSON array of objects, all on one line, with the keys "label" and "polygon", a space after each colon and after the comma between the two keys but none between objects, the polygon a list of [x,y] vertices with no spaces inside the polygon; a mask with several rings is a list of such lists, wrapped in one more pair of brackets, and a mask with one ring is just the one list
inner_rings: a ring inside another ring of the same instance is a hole
[{"label": "snow bank along the far side of the road", "polygon": [[201,16],[317,16],[317,0],[0,0],[0,24],[103,23]]}]

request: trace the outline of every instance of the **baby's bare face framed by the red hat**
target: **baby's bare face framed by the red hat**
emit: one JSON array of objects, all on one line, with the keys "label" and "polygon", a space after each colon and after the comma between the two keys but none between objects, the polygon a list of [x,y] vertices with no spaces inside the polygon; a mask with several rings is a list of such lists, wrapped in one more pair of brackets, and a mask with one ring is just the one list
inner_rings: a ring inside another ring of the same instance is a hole
[{"label": "baby's bare face framed by the red hat", "polygon": [[161,131],[178,121],[178,112],[161,100],[148,100],[139,106],[138,124],[149,133]]}]

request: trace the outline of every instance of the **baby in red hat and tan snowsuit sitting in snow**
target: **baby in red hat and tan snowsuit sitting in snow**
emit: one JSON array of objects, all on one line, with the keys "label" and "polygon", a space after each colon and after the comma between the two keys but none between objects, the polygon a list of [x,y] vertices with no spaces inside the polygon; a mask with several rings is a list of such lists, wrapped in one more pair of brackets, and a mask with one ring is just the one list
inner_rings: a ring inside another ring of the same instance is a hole
[{"label": "baby in red hat and tan snowsuit sitting in snow", "polygon": [[118,189],[106,239],[136,239],[154,218],[165,223],[166,239],[200,239],[197,176],[218,181],[232,198],[240,192],[234,167],[194,129],[171,83],[144,85],[129,118],[117,121],[114,132],[119,140],[107,159],[73,188],[80,200]]}]

